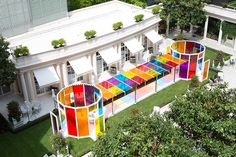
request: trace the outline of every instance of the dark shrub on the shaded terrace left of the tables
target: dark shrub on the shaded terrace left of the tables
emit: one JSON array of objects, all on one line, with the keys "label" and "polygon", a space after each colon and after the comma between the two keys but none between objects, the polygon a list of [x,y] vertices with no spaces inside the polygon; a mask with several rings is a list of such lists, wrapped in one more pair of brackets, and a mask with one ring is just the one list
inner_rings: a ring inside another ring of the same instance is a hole
[{"label": "dark shrub on the shaded terrace left of the tables", "polygon": [[8,103],[7,110],[8,110],[9,121],[12,122],[12,118],[14,118],[17,122],[20,121],[22,112],[20,110],[20,106],[18,102],[11,101],[10,103]]}]

